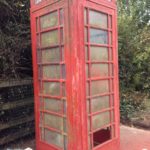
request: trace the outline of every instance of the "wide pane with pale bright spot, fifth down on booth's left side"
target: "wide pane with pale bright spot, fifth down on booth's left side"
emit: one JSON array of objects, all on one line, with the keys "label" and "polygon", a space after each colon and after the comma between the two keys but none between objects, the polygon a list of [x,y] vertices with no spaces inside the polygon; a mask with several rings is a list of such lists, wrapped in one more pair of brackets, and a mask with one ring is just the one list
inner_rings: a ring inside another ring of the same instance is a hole
[{"label": "wide pane with pale bright spot, fifth down on booth's left side", "polygon": [[43,93],[49,94],[51,96],[59,96],[60,95],[60,83],[44,82],[43,83]]}]

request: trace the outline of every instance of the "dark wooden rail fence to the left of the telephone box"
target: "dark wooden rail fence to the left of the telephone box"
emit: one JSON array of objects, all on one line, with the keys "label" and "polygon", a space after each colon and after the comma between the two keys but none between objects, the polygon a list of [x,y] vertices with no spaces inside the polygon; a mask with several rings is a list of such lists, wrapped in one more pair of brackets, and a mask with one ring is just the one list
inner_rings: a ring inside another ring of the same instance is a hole
[{"label": "dark wooden rail fence to the left of the telephone box", "polygon": [[0,81],[0,145],[33,133],[32,80]]}]

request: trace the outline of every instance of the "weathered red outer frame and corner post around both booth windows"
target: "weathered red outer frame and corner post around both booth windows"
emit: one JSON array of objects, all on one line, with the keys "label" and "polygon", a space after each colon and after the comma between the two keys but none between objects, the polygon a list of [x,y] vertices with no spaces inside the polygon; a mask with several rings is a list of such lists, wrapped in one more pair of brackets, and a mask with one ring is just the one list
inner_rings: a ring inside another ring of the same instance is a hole
[{"label": "weathered red outer frame and corner post around both booth windows", "polygon": [[[36,31],[36,19],[39,20],[40,16],[48,14],[60,9],[64,10],[64,57],[66,64],[66,79],[55,80],[56,82],[66,83],[66,101],[67,101],[67,138],[68,150],[88,150],[88,114],[87,114],[87,101],[86,101],[86,71],[85,71],[85,42],[84,42],[84,9],[87,11],[90,9],[100,11],[112,16],[112,34],[113,34],[113,63],[114,64],[114,76],[109,88],[113,89],[114,94],[114,106],[102,110],[102,112],[114,110],[114,122],[110,123],[106,127],[115,127],[115,136],[109,141],[102,143],[96,147],[93,146],[90,150],[119,150],[119,83],[118,83],[118,53],[117,53],[117,11],[115,0],[109,2],[108,0],[41,0],[38,4],[35,4],[35,0],[31,0],[31,31],[32,31],[32,55],[33,55],[33,73],[34,73],[34,95],[35,95],[35,120],[36,120],[36,149],[37,150],[61,150],[61,148],[47,144],[40,138],[40,112],[53,113],[56,116],[62,116],[64,114],[47,112],[46,110],[40,110],[39,103],[39,73],[37,62],[37,34],[41,34],[41,31]],[[110,24],[110,19],[108,20]],[[38,21],[38,28],[40,28]],[[54,27],[55,28],[55,27]],[[61,27],[56,27],[59,30]],[[51,29],[54,30],[54,29]],[[44,32],[47,32],[45,30]],[[60,31],[60,30],[59,30]],[[110,34],[110,33],[109,33]],[[109,37],[109,36],[108,36]],[[89,39],[90,37],[88,37]],[[109,38],[108,38],[109,40]],[[106,46],[106,45],[98,45]],[[109,45],[108,45],[109,48]],[[89,62],[90,63],[90,62]],[[96,63],[96,62],[95,62]],[[105,63],[105,62],[102,62]],[[101,80],[110,80],[111,77],[105,77]],[[89,79],[91,80],[91,79]],[[96,81],[97,78],[94,78]],[[51,82],[51,79],[42,79],[43,81]],[[91,81],[90,81],[91,82]],[[110,82],[110,81],[109,81]],[[110,84],[110,83],[109,83]],[[43,88],[43,85],[42,85]],[[107,94],[106,94],[107,95]],[[44,96],[44,95],[42,95]],[[48,96],[47,96],[48,97]],[[49,96],[51,98],[51,96]],[[60,97],[56,96],[56,99]],[[110,104],[112,105],[112,104]],[[97,112],[97,113],[101,113]],[[95,114],[91,114],[91,118]],[[53,128],[46,127],[48,130],[53,131]],[[104,128],[104,127],[103,127]],[[56,129],[56,132],[60,132]],[[93,131],[94,132],[94,131]],[[111,131],[112,132],[112,131]],[[104,135],[107,132],[102,132]],[[44,133],[45,134],[45,133]],[[108,133],[109,134],[109,133]],[[106,139],[109,135],[104,136]],[[99,135],[95,135],[99,138]],[[93,134],[91,134],[91,139]],[[101,141],[101,140],[99,140]]]}]

